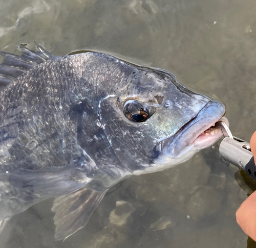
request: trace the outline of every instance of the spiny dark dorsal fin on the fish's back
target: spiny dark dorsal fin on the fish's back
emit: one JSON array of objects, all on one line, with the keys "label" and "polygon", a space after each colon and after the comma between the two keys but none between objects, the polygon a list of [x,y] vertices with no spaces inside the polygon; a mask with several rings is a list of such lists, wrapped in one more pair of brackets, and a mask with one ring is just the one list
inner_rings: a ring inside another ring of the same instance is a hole
[{"label": "spiny dark dorsal fin on the fish's back", "polygon": [[0,51],[0,54],[4,57],[2,64],[0,64],[0,89],[9,85],[23,72],[54,58],[37,43],[35,43],[37,52],[32,51],[26,45],[18,44],[18,47],[22,51],[21,56]]}]

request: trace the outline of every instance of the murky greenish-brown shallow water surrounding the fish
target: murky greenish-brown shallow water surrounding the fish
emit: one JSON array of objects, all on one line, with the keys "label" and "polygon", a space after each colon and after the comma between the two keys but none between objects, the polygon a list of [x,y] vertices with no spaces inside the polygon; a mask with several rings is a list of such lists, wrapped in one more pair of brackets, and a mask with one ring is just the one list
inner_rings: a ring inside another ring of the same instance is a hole
[{"label": "murky greenish-brown shallow water surrounding the fish", "polygon": [[[256,2],[248,0],[1,1],[0,49],[33,41],[53,55],[95,49],[172,71],[223,102],[234,135],[256,129]],[[246,192],[218,144],[175,168],[110,190],[88,225],[54,241],[52,201],[14,216],[1,248],[246,247],[235,212]]]}]

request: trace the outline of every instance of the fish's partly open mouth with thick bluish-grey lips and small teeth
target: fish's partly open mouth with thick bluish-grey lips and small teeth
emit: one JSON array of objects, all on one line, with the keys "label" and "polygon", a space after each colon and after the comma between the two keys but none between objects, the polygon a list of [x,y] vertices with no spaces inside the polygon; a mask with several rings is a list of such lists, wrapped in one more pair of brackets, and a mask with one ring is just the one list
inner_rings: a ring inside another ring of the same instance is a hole
[{"label": "fish's partly open mouth with thick bluish-grey lips and small teeth", "polygon": [[209,101],[197,114],[187,122],[176,134],[157,144],[158,152],[177,159],[185,154],[196,152],[211,146],[222,137],[222,131],[216,127],[218,121],[223,121],[229,127],[225,107],[218,101]]}]

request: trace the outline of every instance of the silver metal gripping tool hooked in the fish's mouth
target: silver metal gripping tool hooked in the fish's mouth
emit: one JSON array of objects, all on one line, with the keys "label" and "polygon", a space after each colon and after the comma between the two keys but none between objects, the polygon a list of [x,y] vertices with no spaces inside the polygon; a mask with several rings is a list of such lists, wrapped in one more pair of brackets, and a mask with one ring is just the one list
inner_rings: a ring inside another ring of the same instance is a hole
[{"label": "silver metal gripping tool hooked in the fish's mouth", "polygon": [[251,153],[250,143],[240,138],[233,137],[224,122],[218,121],[216,125],[225,136],[220,144],[221,157],[246,171],[247,174],[256,181],[256,166]]}]

